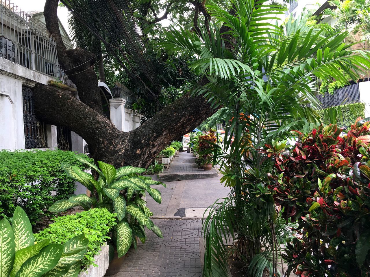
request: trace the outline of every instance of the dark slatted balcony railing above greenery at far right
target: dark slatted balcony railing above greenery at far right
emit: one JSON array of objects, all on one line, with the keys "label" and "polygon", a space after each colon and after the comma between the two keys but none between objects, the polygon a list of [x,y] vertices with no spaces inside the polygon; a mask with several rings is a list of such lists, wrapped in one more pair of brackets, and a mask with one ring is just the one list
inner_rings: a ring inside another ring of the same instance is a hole
[{"label": "dark slatted balcony railing above greenery at far right", "polygon": [[345,86],[344,88],[334,90],[333,94],[326,92],[324,95],[318,95],[316,97],[319,102],[322,103],[323,109],[342,104],[360,102],[360,84],[356,83]]}]

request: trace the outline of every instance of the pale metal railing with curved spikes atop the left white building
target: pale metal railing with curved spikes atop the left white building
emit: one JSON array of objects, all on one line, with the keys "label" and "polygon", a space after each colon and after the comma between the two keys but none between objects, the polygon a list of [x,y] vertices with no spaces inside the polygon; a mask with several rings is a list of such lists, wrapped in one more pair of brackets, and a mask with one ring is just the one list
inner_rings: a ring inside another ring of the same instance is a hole
[{"label": "pale metal railing with curved spikes atop the left white building", "polygon": [[0,57],[66,82],[55,39],[44,25],[9,0],[0,0]]}]

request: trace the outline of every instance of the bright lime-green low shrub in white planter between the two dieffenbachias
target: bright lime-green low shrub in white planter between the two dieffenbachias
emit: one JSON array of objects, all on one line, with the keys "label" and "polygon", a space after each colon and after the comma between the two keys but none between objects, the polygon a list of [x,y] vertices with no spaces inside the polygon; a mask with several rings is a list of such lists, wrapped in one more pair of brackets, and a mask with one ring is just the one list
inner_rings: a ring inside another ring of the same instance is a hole
[{"label": "bright lime-green low shrub in white planter between the two dieffenbachias", "polygon": [[94,255],[101,245],[110,237],[109,234],[116,225],[116,215],[105,208],[94,208],[75,215],[59,216],[48,228],[34,234],[36,242],[45,239],[50,243],[65,243],[74,236],[84,234],[88,239],[87,252],[82,260],[82,267],[94,264]]}]

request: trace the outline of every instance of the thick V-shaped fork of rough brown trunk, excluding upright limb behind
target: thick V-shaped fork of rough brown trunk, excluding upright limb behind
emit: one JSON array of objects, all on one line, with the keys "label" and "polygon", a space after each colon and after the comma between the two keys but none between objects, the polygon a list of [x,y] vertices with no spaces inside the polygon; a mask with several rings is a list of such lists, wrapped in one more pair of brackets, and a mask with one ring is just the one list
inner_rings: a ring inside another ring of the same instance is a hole
[{"label": "thick V-shaped fork of rough brown trunk, excluding upright limb behind", "polygon": [[34,110],[46,123],[67,126],[89,145],[95,160],[115,167],[147,168],[158,153],[213,114],[201,97],[183,96],[129,132],[117,130],[104,115],[58,88],[36,85]]}]

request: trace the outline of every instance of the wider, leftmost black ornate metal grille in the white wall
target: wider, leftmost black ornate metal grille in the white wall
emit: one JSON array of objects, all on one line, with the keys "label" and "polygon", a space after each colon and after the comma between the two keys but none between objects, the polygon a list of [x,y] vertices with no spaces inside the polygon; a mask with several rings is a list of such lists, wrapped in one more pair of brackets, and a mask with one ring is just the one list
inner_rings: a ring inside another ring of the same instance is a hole
[{"label": "wider, leftmost black ornate metal grille in the white wall", "polygon": [[33,90],[22,87],[23,123],[26,149],[47,147],[45,124],[40,122],[33,112]]}]

